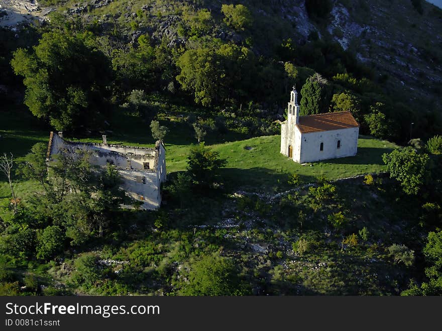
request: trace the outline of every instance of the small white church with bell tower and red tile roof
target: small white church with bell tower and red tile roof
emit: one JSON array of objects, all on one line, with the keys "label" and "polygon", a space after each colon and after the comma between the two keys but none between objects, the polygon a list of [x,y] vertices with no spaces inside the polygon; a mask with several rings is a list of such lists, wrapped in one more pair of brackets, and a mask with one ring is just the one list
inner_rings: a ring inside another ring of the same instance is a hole
[{"label": "small white church with bell tower and red tile roof", "polygon": [[298,93],[293,87],[287,120],[281,123],[281,153],[295,162],[355,156],[359,124],[350,112],[299,116]]}]

